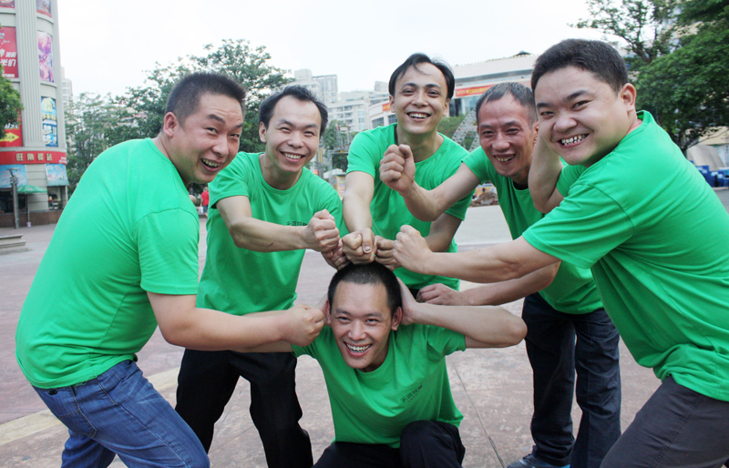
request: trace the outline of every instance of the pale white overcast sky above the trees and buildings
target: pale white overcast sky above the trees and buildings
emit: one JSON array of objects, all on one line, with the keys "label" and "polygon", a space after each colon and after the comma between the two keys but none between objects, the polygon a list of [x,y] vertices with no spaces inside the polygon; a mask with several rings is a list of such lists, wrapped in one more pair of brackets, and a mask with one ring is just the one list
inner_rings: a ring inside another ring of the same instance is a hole
[{"label": "pale white overcast sky above the trees and buildings", "polygon": [[[271,65],[337,75],[339,91],[372,89],[414,52],[451,66],[539,54],[569,37],[585,0],[58,0],[61,65],[82,92],[141,86],[155,63],[246,39]],[[291,75],[293,76],[293,74]]]}]

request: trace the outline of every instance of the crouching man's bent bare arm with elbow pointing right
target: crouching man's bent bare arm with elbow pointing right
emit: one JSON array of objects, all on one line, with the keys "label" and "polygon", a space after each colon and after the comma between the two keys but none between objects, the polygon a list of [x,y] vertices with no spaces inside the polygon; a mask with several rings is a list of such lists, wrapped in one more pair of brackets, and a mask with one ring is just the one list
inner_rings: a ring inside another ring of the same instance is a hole
[{"label": "crouching man's bent bare arm with elbow pointing right", "polygon": [[466,336],[467,348],[513,346],[527,335],[524,320],[500,307],[439,306],[413,299],[400,281],[403,295],[403,325],[420,323],[457,331]]}]

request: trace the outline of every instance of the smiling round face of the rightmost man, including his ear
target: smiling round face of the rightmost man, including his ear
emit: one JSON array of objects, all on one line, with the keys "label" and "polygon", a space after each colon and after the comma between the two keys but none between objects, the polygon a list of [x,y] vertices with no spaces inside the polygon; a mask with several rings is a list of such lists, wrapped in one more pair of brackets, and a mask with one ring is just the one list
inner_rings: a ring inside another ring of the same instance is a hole
[{"label": "smiling round face of the rightmost man, including his ear", "polygon": [[567,163],[590,166],[631,130],[636,121],[635,95],[630,83],[616,93],[576,66],[549,72],[534,90],[539,132]]}]

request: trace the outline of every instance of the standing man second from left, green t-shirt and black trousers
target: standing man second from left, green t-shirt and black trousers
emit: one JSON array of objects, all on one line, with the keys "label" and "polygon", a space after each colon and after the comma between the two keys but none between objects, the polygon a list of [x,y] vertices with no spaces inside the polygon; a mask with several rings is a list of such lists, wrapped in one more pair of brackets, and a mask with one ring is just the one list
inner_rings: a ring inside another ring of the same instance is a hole
[{"label": "standing man second from left, green t-shirt and black trousers", "polygon": [[[263,153],[240,153],[210,183],[208,254],[198,306],[244,315],[293,306],[305,249],[335,268],[346,261],[336,190],[304,168],[326,127],[323,103],[288,86],[261,104]],[[186,350],[176,410],[210,450],[215,422],[241,377],[251,383],[251,417],[269,467],[308,468],[308,434],[299,426],[292,354]]]}]

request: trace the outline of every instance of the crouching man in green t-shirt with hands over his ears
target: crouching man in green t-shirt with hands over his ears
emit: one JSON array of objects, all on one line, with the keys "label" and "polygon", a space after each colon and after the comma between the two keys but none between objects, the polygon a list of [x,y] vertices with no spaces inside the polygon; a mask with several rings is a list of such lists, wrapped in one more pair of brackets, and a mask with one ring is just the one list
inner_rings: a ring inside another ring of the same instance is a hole
[{"label": "crouching man in green t-shirt with hands over his ears", "polygon": [[463,415],[453,402],[445,357],[513,346],[527,332],[524,322],[496,307],[418,303],[376,262],[337,271],[327,299],[330,326],[311,345],[252,350],[308,354],[322,366],[334,443],[314,466],[459,467]]}]

